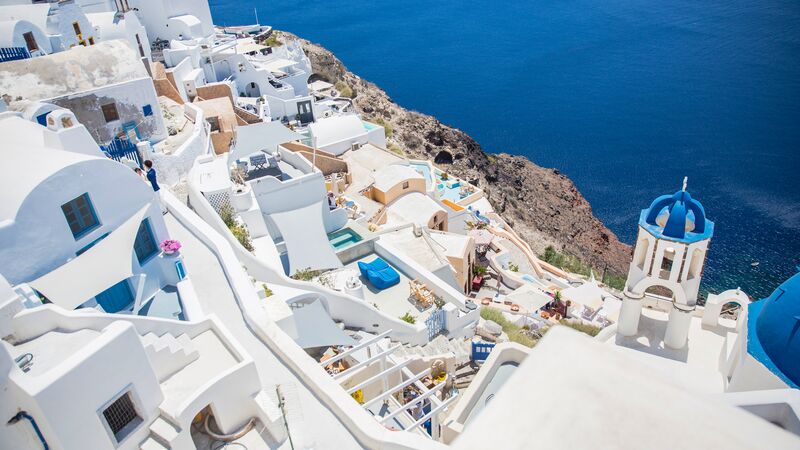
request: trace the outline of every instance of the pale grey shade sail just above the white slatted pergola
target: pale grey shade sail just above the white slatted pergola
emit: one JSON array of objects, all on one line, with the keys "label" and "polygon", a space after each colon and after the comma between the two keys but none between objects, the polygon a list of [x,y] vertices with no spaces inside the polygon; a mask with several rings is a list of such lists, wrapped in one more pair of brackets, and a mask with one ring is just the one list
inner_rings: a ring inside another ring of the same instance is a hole
[{"label": "pale grey shade sail just above the white slatted pergola", "polygon": [[295,309],[291,316],[279,320],[278,326],[302,348],[356,344],[333,322],[319,301]]}]

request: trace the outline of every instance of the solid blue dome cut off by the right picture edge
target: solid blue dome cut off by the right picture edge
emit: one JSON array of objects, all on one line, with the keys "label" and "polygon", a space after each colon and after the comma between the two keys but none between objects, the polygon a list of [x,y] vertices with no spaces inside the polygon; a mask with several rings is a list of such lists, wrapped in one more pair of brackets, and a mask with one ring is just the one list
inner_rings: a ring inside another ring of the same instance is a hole
[{"label": "solid blue dome cut off by the right picture edge", "polygon": [[747,310],[747,351],[787,384],[800,385],[800,273]]}]

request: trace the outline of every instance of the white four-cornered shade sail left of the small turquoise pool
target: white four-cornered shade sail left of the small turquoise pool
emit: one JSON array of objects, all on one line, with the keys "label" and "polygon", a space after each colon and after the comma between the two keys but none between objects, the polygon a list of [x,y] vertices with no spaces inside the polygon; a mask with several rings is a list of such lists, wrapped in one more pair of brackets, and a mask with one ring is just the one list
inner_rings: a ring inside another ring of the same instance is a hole
[{"label": "white four-cornered shade sail left of the small turquoise pool", "polygon": [[338,269],[342,262],[333,251],[322,215],[328,214],[327,200],[302,208],[272,213],[270,219],[280,230],[289,256],[289,274],[298,270]]}]

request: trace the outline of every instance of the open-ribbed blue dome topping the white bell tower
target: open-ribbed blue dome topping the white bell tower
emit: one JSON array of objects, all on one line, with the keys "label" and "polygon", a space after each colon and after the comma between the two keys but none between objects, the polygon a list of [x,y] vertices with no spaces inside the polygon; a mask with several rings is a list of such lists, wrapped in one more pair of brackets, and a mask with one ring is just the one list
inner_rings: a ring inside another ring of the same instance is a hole
[{"label": "open-ribbed blue dome topping the white bell tower", "polygon": [[706,218],[703,205],[685,190],[653,200],[642,211],[639,225],[656,237],[687,243],[708,239],[714,233],[714,222]]}]

